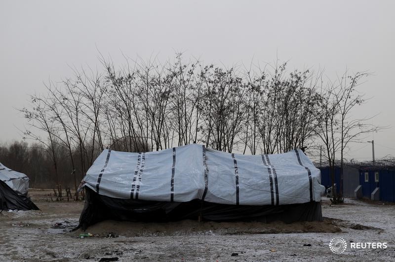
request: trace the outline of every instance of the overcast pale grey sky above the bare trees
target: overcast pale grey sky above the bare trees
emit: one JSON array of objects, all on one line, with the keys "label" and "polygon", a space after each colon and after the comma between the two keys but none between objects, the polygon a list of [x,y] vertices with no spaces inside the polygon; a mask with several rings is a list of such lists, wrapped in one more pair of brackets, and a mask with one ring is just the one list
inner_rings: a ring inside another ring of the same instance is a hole
[{"label": "overcast pale grey sky above the bare trees", "polygon": [[[121,52],[160,60],[185,51],[205,63],[249,64],[252,57],[288,69],[346,67],[374,75],[360,86],[371,98],[356,117],[379,114],[391,126],[368,135],[376,158],[395,155],[395,1],[8,1],[0,2],[0,142],[20,140],[26,121],[14,108],[43,82],[73,76],[70,66],[100,66],[98,50],[116,65]],[[371,144],[347,158],[371,159]]]}]

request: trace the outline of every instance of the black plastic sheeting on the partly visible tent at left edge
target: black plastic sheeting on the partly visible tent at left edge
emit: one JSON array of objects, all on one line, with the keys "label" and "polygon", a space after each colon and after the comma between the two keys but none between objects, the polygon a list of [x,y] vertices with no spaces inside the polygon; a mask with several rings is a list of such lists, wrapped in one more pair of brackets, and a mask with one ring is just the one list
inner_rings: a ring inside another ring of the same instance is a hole
[{"label": "black plastic sheeting on the partly visible tent at left edge", "polygon": [[0,180],[0,210],[39,210],[26,196],[19,195],[5,182]]}]

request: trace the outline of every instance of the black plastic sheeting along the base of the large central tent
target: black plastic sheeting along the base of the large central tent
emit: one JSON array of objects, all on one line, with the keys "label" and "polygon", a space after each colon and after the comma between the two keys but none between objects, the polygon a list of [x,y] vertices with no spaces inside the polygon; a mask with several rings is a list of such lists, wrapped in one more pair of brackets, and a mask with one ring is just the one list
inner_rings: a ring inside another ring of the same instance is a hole
[{"label": "black plastic sheeting along the base of the large central tent", "polygon": [[[322,221],[320,202],[288,205],[227,205],[201,201],[159,202],[119,199],[85,188],[85,205],[79,218],[82,230],[104,220],[168,222],[184,219],[206,221]],[[78,227],[78,228],[79,228]]]}]

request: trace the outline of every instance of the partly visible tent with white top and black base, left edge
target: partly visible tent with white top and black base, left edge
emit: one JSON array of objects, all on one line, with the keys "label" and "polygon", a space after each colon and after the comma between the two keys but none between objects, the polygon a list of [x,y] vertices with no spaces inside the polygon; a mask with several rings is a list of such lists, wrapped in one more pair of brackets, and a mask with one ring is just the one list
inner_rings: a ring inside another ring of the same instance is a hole
[{"label": "partly visible tent with white top and black base, left edge", "polygon": [[38,210],[27,197],[29,178],[0,163],[0,210]]}]

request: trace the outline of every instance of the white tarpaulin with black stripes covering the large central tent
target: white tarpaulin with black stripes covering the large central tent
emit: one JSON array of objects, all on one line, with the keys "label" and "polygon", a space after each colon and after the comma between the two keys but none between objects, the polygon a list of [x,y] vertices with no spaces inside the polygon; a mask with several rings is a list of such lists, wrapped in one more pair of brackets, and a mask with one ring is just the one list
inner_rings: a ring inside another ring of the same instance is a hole
[{"label": "white tarpaulin with black stripes covering the large central tent", "polygon": [[108,197],[220,204],[282,205],[319,201],[320,171],[297,149],[241,155],[191,144],[158,152],[104,150],[82,186]]}]

